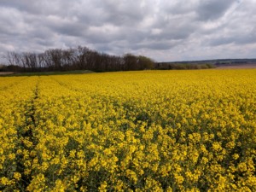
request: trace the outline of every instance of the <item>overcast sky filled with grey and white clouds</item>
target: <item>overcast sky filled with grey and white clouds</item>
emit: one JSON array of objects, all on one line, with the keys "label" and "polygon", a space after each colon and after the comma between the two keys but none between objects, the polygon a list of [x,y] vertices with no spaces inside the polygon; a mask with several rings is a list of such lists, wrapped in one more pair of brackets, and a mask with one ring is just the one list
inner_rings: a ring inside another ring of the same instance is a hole
[{"label": "overcast sky filled with grey and white clouds", "polygon": [[86,46],[155,61],[256,58],[256,0],[0,0],[0,54]]}]

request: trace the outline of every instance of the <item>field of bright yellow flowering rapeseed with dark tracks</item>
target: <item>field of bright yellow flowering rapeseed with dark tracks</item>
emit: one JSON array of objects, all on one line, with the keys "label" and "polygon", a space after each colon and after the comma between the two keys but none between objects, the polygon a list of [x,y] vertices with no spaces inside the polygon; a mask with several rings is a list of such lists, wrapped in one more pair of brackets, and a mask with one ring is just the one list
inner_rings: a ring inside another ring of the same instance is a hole
[{"label": "field of bright yellow flowering rapeseed with dark tracks", "polygon": [[256,70],[0,77],[0,191],[256,191]]}]

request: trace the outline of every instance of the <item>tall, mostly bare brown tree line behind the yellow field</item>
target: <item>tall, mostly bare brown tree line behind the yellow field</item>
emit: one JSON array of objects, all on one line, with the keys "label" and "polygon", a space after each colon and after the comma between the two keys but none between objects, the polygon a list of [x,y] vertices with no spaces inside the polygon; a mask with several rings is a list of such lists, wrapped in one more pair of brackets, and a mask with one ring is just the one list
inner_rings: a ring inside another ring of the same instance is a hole
[{"label": "tall, mostly bare brown tree line behind the yellow field", "polygon": [[71,70],[111,72],[152,69],[155,66],[152,59],[143,55],[108,55],[83,46],[47,49],[43,53],[8,52],[5,59],[10,70],[23,72]]}]

